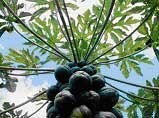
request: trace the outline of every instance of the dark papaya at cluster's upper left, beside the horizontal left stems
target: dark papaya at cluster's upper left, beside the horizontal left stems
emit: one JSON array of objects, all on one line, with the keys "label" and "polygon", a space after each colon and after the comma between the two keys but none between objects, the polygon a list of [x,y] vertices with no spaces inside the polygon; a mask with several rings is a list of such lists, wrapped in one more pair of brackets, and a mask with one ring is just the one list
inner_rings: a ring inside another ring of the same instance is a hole
[{"label": "dark papaya at cluster's upper left, beside the horizontal left stems", "polygon": [[72,70],[69,66],[60,66],[55,70],[54,74],[56,80],[64,84],[68,82],[70,76],[72,75]]}]

